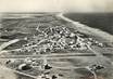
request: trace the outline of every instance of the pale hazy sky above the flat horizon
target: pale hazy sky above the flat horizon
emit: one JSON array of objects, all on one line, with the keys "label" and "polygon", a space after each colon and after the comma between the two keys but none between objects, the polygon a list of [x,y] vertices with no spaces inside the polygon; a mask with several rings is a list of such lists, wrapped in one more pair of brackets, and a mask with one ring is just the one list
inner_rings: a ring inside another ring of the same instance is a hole
[{"label": "pale hazy sky above the flat horizon", "polygon": [[113,12],[113,0],[0,0],[0,12]]}]

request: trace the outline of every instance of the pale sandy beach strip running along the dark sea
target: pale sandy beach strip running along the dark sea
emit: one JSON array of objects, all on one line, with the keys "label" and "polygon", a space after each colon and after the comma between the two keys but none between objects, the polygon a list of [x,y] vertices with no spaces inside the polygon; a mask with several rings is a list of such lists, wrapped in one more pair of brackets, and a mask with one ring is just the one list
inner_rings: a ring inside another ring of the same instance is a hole
[{"label": "pale sandy beach strip running along the dark sea", "polygon": [[98,28],[89,27],[85,24],[80,24],[79,22],[75,22],[75,21],[64,16],[64,13],[60,13],[60,14],[58,14],[58,16],[63,18],[64,21],[71,23],[71,24],[75,25],[77,28],[80,28],[81,30],[85,30],[86,32],[90,31],[91,34],[95,34],[95,35],[105,39],[109,42],[113,42],[113,36],[103,31],[103,30],[100,30]]}]

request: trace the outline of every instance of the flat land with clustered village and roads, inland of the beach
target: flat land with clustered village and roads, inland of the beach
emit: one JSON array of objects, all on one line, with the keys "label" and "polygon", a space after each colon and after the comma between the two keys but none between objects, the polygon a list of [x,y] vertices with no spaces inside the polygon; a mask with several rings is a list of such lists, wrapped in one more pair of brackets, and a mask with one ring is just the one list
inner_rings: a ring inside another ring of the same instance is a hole
[{"label": "flat land with clustered village and roads, inland of the beach", "polygon": [[[112,79],[113,41],[59,13],[8,13],[0,26],[0,79]],[[10,74],[9,74],[10,75]]]}]

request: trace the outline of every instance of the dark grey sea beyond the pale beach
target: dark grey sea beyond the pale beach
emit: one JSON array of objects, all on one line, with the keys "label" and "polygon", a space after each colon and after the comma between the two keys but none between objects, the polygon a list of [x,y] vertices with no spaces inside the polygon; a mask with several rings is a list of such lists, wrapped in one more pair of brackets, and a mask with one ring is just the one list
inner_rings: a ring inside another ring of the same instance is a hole
[{"label": "dark grey sea beyond the pale beach", "polygon": [[65,13],[64,16],[113,35],[113,13]]}]

